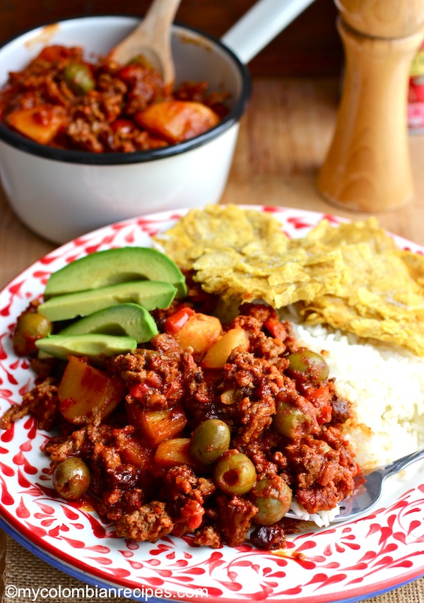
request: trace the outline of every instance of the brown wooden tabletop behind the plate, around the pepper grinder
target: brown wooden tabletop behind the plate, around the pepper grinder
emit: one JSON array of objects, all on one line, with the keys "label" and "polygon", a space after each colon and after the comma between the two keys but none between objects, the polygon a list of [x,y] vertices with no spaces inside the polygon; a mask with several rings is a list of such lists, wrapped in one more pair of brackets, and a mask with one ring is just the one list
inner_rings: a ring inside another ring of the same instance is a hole
[{"label": "brown wooden tabletop behind the plate, around the pepper grinder", "polygon": [[[334,131],[338,93],[335,79],[256,79],[223,203],[291,206],[364,217],[330,206],[316,189],[317,171]],[[404,209],[377,217],[387,230],[424,245],[424,136],[411,137],[410,146],[416,197]],[[53,248],[18,221],[0,190],[0,287]],[[422,589],[422,580],[419,583]],[[402,592],[398,589],[372,600],[421,600],[416,591],[413,598]]]}]

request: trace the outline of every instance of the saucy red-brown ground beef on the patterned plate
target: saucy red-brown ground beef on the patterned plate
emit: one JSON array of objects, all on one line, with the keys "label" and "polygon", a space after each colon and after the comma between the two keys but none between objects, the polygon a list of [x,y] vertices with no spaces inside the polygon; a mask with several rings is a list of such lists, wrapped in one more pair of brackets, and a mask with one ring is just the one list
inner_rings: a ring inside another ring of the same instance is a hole
[{"label": "saucy red-brown ground beef on the patterned plate", "polygon": [[[170,308],[168,315],[175,310]],[[162,329],[167,312],[161,310],[155,318]],[[116,523],[118,537],[154,542],[172,534],[213,548],[250,539],[262,549],[281,548],[288,520],[259,523],[252,491],[222,491],[214,465],[192,462],[189,448],[185,456],[161,462],[155,457],[157,446],[141,436],[127,412],[129,406],[183,412],[187,421],[177,435],[180,442],[189,441],[196,426],[208,419],[224,421],[230,428],[230,450],[250,459],[257,482],[278,476],[309,513],[334,508],[352,493],[360,471],[341,431],[350,414],[348,402],[338,397],[331,378],[290,370],[288,358],[303,349],[290,323],[278,320],[272,308],[242,305],[225,330],[235,327],[245,331],[249,346],[234,349],[223,368],[205,368],[201,354],[182,349],[166,332],[134,353],[110,359],[107,372],[124,381],[126,399],[104,421],[92,416],[78,426],[68,423],[58,412],[60,376],[50,376],[26,394],[21,409],[6,412],[1,426],[7,428],[25,413],[44,428],[56,421],[61,433],[45,449],[52,468],[68,457],[86,462],[89,496],[100,517]],[[293,428],[290,423],[288,435],[278,430],[281,404],[305,418],[293,421]]]}]

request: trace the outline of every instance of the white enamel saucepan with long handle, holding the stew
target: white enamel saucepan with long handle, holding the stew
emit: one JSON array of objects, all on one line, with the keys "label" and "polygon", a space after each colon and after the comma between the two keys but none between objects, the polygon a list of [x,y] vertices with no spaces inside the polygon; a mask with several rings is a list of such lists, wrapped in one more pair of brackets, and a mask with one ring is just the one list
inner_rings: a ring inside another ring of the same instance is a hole
[{"label": "white enamel saucepan with long handle, holding the stew", "polygon": [[[31,230],[62,243],[108,223],[153,211],[217,203],[251,89],[246,64],[312,0],[259,0],[222,40],[172,26],[176,83],[207,81],[228,90],[230,112],[184,143],[135,153],[89,153],[42,146],[0,124],[0,178],[13,211]],[[0,47],[0,86],[45,45],[81,46],[93,59],[139,20],[74,18],[30,30]]]}]

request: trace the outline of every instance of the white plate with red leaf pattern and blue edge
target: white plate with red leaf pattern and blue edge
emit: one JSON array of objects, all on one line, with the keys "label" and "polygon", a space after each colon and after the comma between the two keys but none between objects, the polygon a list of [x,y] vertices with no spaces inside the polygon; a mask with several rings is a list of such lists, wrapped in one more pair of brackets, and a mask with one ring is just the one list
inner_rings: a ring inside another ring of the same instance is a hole
[{"label": "white plate with red leaf pattern and blue edge", "polygon": [[[252,206],[250,206],[252,208]],[[323,217],[298,209],[272,211],[298,237]],[[25,270],[0,293],[0,404],[20,404],[32,387],[28,363],[16,358],[11,332],[29,301],[42,295],[49,274],[89,252],[151,245],[186,210],[157,213],[107,226],[67,243]],[[422,247],[397,238],[401,247]],[[40,448],[47,434],[33,418],[0,433],[0,525],[34,554],[90,585],[134,590],[140,599],[188,601],[354,602],[399,587],[424,574],[424,479],[391,479],[375,512],[354,522],[288,537],[287,549],[259,551],[193,546],[189,537],[156,544],[119,539],[87,503],[57,497]],[[122,596],[129,597],[123,591]]]}]

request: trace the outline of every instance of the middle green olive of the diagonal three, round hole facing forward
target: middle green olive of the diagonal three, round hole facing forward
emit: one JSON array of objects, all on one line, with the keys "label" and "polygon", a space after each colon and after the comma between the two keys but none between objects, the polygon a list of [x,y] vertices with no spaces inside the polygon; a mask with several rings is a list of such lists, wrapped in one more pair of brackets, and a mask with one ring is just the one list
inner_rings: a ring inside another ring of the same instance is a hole
[{"label": "middle green olive of the diagonal three, round hole facing forward", "polygon": [[227,494],[245,494],[254,486],[257,473],[249,457],[238,450],[227,450],[216,462],[213,479]]}]

